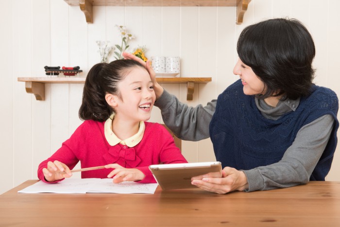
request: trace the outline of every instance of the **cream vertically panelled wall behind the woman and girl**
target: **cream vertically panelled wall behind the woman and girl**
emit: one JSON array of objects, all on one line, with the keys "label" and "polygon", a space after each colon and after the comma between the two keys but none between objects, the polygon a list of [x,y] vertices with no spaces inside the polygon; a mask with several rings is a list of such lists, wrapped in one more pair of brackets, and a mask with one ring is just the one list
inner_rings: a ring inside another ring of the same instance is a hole
[{"label": "cream vertically panelled wall behind the woman and girl", "polygon": [[[46,86],[46,100],[36,101],[17,77],[44,76],[43,67],[80,66],[87,71],[99,61],[96,40],[119,43],[115,25],[126,25],[136,36],[131,46],[146,45],[147,56],[179,55],[182,76],[212,77],[196,85],[193,101],[186,101],[186,85],[164,85],[188,105],[217,98],[234,82],[236,42],[241,30],[264,18],[296,17],[314,37],[317,54],[315,83],[340,94],[340,1],[252,0],[241,25],[235,7],[94,7],[94,23],[86,24],[78,7],[63,0],[0,0],[0,193],[36,179],[38,164],[68,139],[81,123],[78,108],[82,84]],[[113,57],[111,57],[113,60]],[[153,122],[161,122],[154,108]],[[193,161],[214,160],[209,139],[183,142]],[[336,152],[328,180],[340,181]]]}]

